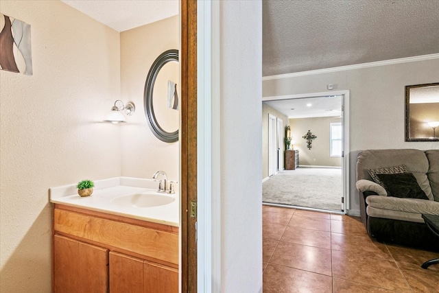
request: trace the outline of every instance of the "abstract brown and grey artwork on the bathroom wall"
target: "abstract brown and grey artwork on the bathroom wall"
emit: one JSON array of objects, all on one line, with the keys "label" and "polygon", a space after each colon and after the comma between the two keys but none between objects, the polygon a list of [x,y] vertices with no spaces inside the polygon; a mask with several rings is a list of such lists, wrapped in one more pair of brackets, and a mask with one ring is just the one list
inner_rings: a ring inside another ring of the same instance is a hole
[{"label": "abstract brown and grey artwork on the bathroom wall", "polygon": [[0,69],[32,75],[30,25],[0,14]]}]

